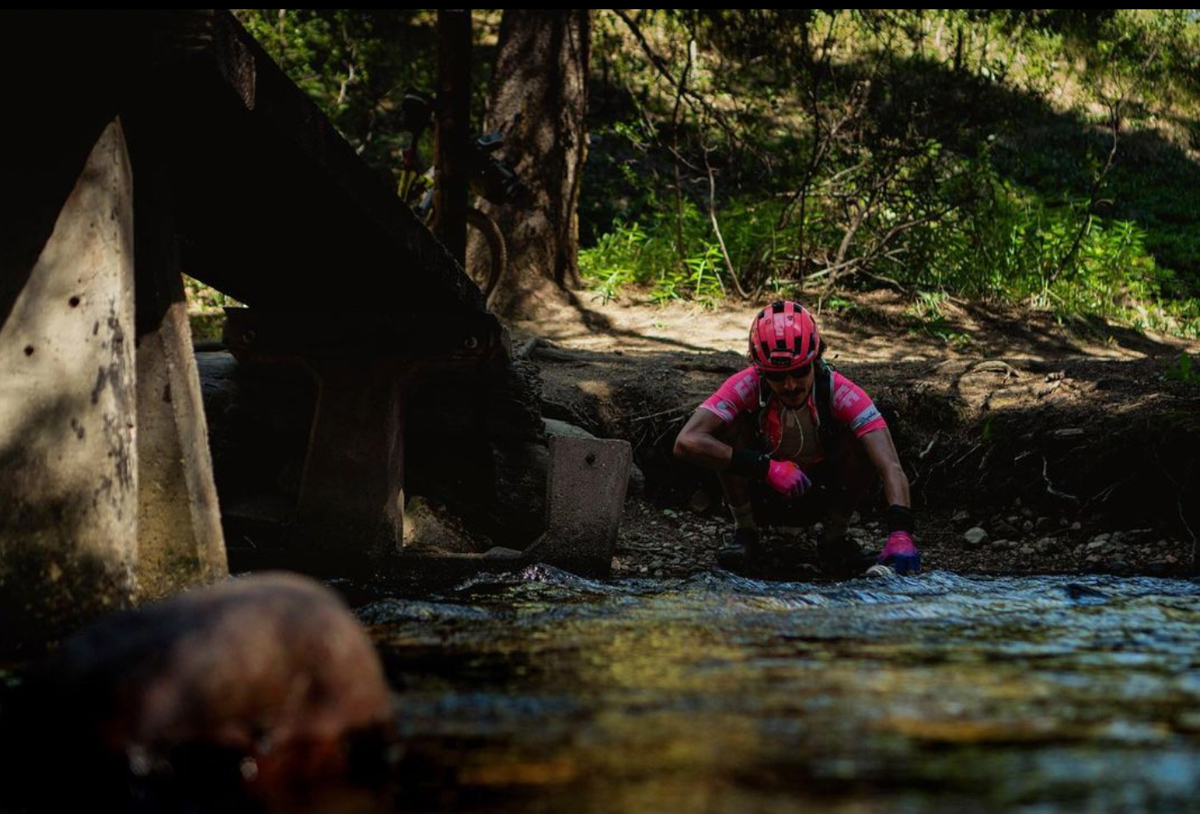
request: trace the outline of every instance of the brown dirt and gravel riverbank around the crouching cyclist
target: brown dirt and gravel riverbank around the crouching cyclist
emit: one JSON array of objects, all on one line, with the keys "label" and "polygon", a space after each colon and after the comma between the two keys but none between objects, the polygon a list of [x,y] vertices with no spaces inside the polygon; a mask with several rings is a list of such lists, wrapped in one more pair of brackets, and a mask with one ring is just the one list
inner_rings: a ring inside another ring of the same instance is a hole
[{"label": "brown dirt and gravel riverbank around the crouching cyclist", "polygon": [[[514,325],[514,346],[538,367],[545,417],[634,444],[646,493],[626,505],[614,574],[712,568],[726,511],[714,479],[670,448],[744,366],[754,307],[583,307]],[[887,293],[844,300],[820,325],[828,358],[888,417],[928,569],[1192,573],[1200,384],[1180,359],[1200,343],[953,301],[935,319]],[[883,541],[875,508],[851,528],[864,547]],[[810,529],[772,535],[802,559],[815,544]]]}]

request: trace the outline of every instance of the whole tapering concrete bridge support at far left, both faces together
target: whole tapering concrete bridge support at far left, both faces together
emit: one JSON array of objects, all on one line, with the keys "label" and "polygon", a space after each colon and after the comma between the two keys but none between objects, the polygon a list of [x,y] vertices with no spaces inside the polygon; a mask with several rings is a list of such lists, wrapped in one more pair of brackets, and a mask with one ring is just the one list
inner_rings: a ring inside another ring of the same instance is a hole
[{"label": "whole tapering concrete bridge support at far left, both faces together", "polygon": [[0,208],[53,221],[30,229],[49,235],[40,251],[13,247],[26,234],[0,247],[0,646],[226,573],[181,306],[134,348],[144,273],[122,126],[104,126],[85,161],[41,157],[83,169],[61,205],[26,170],[7,194],[30,199]]}]

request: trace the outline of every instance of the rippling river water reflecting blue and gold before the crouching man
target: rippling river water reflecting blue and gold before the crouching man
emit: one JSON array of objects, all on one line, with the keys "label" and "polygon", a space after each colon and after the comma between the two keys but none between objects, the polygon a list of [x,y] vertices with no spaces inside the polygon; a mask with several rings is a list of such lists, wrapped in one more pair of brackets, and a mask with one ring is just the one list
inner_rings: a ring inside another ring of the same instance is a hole
[{"label": "rippling river water reflecting blue and gold before the crouching man", "polygon": [[1200,810],[1200,583],[582,580],[359,609],[403,810]]}]

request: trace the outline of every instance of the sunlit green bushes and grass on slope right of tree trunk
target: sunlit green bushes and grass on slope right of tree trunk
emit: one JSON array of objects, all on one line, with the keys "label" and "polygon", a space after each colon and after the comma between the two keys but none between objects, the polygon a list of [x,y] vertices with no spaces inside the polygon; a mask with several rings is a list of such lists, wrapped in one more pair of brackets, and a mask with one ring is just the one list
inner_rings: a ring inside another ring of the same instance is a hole
[{"label": "sunlit green bushes and grass on slope right of tree trunk", "polygon": [[[828,304],[892,285],[914,298],[914,329],[949,342],[968,337],[941,317],[944,295],[1198,331],[1200,168],[1148,137],[1164,120],[1152,106],[1200,76],[1190,12],[640,14],[642,42],[611,18],[596,28],[608,84],[593,98],[610,104],[581,214],[605,297],[733,291],[712,182],[752,295]],[[773,217],[751,227],[756,211]]]}]

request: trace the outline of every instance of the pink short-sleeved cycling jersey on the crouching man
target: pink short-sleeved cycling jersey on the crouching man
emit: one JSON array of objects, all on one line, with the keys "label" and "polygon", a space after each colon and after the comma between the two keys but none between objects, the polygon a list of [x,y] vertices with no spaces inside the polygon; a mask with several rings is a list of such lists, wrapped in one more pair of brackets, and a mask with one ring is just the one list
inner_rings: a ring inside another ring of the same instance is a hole
[{"label": "pink short-sleeved cycling jersey on the crouching man", "polygon": [[[882,430],[887,421],[880,414],[878,407],[871,401],[863,388],[858,387],[848,378],[833,371],[832,381],[833,405],[832,414],[838,424],[845,426],[856,437],[865,436],[868,432]],[[762,409],[761,401],[767,401],[767,413],[760,417],[760,426],[772,445],[778,445],[781,433],[778,399],[760,399],[760,387],[763,396],[769,394],[769,387],[760,384],[758,372],[751,366],[734,373],[725,379],[716,393],[701,405],[702,409],[715,413],[726,424],[732,424],[738,415],[755,414]],[[816,388],[814,387],[814,393]],[[814,423],[820,423],[814,394],[809,394],[809,414]]]}]

